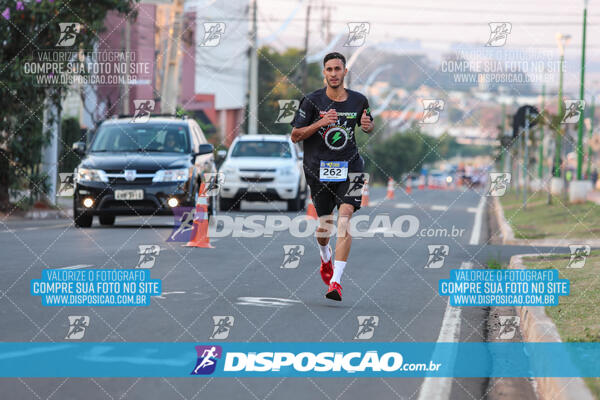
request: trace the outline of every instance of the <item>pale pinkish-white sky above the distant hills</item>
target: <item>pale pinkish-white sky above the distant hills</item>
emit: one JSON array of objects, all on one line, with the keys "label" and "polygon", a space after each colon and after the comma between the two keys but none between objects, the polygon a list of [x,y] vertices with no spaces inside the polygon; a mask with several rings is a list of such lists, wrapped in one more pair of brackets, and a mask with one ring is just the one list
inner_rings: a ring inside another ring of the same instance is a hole
[{"label": "pale pinkish-white sky above the distant hills", "polygon": [[[300,6],[298,4],[300,3]],[[311,4],[309,54],[327,46],[323,20],[329,10],[330,33],[347,35],[349,22],[369,22],[368,44],[412,40],[399,52],[424,53],[432,59],[457,45],[477,49],[489,39],[491,22],[512,25],[505,51],[526,51],[529,60],[558,60],[557,32],[571,35],[565,51],[565,88],[578,91],[581,65],[583,0],[258,0],[259,38],[279,49],[304,46],[306,8]],[[293,14],[294,10],[296,13]],[[286,19],[293,14],[289,23]],[[600,0],[588,2],[587,94],[600,94]],[[414,42],[417,41],[417,42]],[[518,57],[517,57],[518,59]]]}]

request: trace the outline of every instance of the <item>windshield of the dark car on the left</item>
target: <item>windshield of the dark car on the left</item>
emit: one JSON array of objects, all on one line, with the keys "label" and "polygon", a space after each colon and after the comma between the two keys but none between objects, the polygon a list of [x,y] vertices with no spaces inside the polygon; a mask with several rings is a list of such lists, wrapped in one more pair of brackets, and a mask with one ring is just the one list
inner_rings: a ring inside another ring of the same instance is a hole
[{"label": "windshield of the dark car on the left", "polygon": [[185,125],[107,124],[98,129],[91,151],[188,153],[188,137]]}]

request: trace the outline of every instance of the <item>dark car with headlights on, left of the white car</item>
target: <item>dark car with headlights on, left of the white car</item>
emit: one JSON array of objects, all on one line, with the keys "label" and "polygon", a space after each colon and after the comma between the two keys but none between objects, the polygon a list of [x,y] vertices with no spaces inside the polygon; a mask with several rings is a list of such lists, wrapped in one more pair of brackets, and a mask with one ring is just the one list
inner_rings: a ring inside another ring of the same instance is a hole
[{"label": "dark car with headlights on, left of the white car", "polygon": [[[84,157],[74,179],[79,227],[90,227],[94,215],[102,225],[117,215],[172,215],[174,207],[194,206],[200,183],[217,172],[213,146],[193,119],[106,120],[87,149],[77,142],[73,150]],[[208,198],[209,213],[216,204]]]}]

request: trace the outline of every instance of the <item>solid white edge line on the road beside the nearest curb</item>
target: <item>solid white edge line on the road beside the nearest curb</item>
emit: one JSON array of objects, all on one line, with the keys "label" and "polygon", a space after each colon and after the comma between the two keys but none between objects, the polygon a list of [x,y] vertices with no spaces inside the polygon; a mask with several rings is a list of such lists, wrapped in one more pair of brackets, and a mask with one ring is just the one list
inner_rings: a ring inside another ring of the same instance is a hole
[{"label": "solid white edge line on the road beside the nearest curb", "polygon": [[[460,269],[471,269],[472,267],[473,263],[463,262],[460,266]],[[450,298],[448,298],[448,303],[446,303],[446,311],[444,312],[444,319],[442,320],[442,327],[440,328],[440,334],[437,340],[438,343],[459,341],[460,311],[460,307],[452,307],[450,305]],[[442,353],[446,352],[436,346],[433,350],[433,354],[431,355],[431,360],[433,362],[438,362],[442,358],[445,358],[442,357]],[[452,370],[455,358],[455,353],[450,354],[448,361],[451,365],[446,364],[444,367]],[[453,377],[425,377],[423,384],[421,385],[421,390],[419,391],[418,400],[448,400],[450,398],[450,393],[452,392],[453,379]]]}]

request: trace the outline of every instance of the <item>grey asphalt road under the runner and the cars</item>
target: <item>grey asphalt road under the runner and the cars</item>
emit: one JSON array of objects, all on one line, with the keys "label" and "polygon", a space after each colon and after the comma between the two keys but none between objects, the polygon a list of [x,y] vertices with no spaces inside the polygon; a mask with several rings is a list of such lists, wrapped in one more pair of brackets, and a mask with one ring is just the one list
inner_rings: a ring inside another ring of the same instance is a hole
[{"label": "grey asphalt road under the runner and the cars", "polygon": [[[90,342],[200,342],[213,333],[212,316],[233,316],[224,342],[353,341],[358,316],[379,319],[371,341],[435,342],[447,308],[437,292],[450,269],[485,268],[491,259],[508,260],[526,252],[492,246],[485,216],[476,223],[476,191],[396,191],[372,189],[374,204],[358,215],[414,216],[419,231],[411,237],[354,240],[342,278],[343,301],[324,298],[314,237],[288,231],[270,237],[213,239],[214,249],[185,248],[166,242],[172,218],[123,217],[114,227],[76,229],[67,220],[0,222],[0,341],[62,342],[69,315],[87,315]],[[286,215],[278,204],[244,204],[228,214]],[[476,233],[474,233],[474,227]],[[425,231],[421,231],[421,229]],[[429,228],[432,228],[427,231]],[[437,232],[435,230],[438,230]],[[444,235],[444,230],[447,233]],[[422,235],[421,233],[424,233]],[[431,233],[432,235],[429,235]],[[455,235],[453,235],[455,233]],[[149,307],[44,307],[29,292],[30,280],[46,268],[134,268],[138,246],[158,244],[152,277],[162,280],[163,296]],[[285,245],[303,245],[296,268],[281,268]],[[440,268],[425,268],[428,246],[446,245]],[[539,249],[538,249],[539,250]],[[555,251],[557,251],[556,249]],[[454,333],[460,341],[485,341],[484,307],[464,307]],[[0,392],[11,398],[120,399],[417,399],[423,379],[3,379]],[[487,379],[449,379],[440,398],[480,399]],[[450,389],[451,388],[451,389]]]}]

